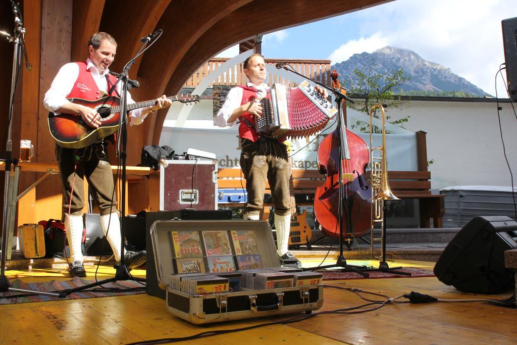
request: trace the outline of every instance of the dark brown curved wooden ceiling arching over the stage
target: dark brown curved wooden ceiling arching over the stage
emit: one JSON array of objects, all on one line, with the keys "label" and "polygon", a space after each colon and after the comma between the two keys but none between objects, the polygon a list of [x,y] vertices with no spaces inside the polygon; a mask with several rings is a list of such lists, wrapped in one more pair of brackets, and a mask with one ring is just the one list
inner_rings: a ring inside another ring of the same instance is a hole
[{"label": "dark brown curved wooden ceiling arching over the stage", "polygon": [[[176,94],[185,80],[210,57],[256,34],[308,23],[385,3],[387,0],[92,0],[74,1],[72,55],[84,57],[85,42],[97,30],[113,35],[117,58],[112,70],[140,48],[140,38],[163,29],[163,35],[130,70],[141,82],[133,98]],[[86,4],[85,4],[86,3]],[[102,17],[99,21],[98,13]],[[339,33],[338,33],[339,34]],[[76,46],[77,39],[81,41]],[[310,48],[310,42],[307,43]],[[157,144],[166,111],[144,122],[144,145]]]}]

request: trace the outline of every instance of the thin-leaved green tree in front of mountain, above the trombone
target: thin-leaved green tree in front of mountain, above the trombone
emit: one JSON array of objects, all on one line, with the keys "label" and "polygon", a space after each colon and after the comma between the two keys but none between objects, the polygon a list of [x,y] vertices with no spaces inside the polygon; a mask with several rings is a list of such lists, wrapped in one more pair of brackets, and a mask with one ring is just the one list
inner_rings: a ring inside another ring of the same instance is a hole
[{"label": "thin-leaved green tree in front of mountain, above the trombone", "polygon": [[[355,68],[353,76],[351,78],[344,78],[342,84],[346,87],[348,95],[356,97],[360,100],[354,104],[347,102],[347,107],[358,110],[369,116],[370,108],[374,104],[386,105],[386,108],[401,108],[403,100],[400,96],[396,96],[395,93],[402,91],[401,85],[410,79],[410,77],[404,76],[402,68],[397,70],[391,70],[387,73],[378,73],[378,63],[372,61],[367,67]],[[380,118],[381,111],[376,108],[373,116]],[[394,121],[390,121],[391,116],[386,114],[386,121],[404,127],[404,123],[408,121],[410,116],[399,118]],[[370,124],[363,121],[358,121],[352,124],[352,128],[360,127],[361,132],[370,132]],[[381,133],[381,128],[373,126],[374,133]],[[387,131],[387,133],[390,133]]]}]

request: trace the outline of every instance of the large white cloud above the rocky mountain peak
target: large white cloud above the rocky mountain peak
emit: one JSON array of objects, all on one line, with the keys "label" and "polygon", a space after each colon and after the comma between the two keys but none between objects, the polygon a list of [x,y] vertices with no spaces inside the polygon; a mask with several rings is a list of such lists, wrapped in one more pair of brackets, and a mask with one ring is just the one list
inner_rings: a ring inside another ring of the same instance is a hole
[{"label": "large white cloud above the rocky mountain peak", "polygon": [[336,63],[386,45],[410,49],[495,95],[504,62],[501,20],[515,13],[515,0],[398,0],[356,12],[362,37],[329,58]]}]

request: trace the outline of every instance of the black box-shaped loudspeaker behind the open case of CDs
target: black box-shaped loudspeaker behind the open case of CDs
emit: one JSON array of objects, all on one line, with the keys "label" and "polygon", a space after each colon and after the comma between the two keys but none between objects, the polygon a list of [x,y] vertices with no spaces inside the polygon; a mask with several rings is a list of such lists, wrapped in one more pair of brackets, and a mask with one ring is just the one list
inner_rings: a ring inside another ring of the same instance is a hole
[{"label": "black box-shaped loudspeaker behind the open case of CDs", "polygon": [[[232,211],[230,210],[197,210],[197,209],[181,209],[180,211],[158,211],[148,212],[145,215],[145,236],[146,236],[146,282],[145,291],[149,295],[157,296],[165,299],[166,291],[161,289],[158,282],[158,275],[156,273],[155,254],[153,250],[153,243],[151,242],[151,225],[157,220],[171,220],[171,219],[186,219],[186,220],[224,220],[232,219]],[[172,249],[171,249],[172,250]],[[164,287],[165,288],[165,287]]]}]

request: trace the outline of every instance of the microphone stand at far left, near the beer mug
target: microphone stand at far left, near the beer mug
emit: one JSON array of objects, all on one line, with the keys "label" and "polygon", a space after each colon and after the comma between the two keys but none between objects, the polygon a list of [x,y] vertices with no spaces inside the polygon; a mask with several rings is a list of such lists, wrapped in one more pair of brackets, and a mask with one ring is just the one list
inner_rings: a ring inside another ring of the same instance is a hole
[{"label": "microphone stand at far left, near the beer mug", "polygon": [[[18,163],[18,159],[12,159],[12,116],[13,116],[13,98],[14,92],[16,91],[16,82],[18,79],[18,73],[20,72],[20,62],[21,59],[21,50],[25,54],[25,65],[27,71],[32,70],[31,63],[28,61],[27,51],[25,49],[25,42],[23,40],[23,34],[25,34],[25,28],[23,27],[23,22],[21,20],[21,13],[18,9],[18,6],[12,2],[11,0],[12,11],[14,13],[14,33],[13,35],[6,35],[9,42],[14,43],[14,54],[12,59],[12,78],[11,78],[11,97],[9,100],[9,125],[7,131],[7,145],[6,145],[6,158],[2,159],[5,162],[5,186],[4,186],[4,207],[3,207],[3,221],[2,221],[2,253],[0,253],[0,292],[8,292],[8,291],[16,291],[23,292],[27,294],[33,295],[47,295],[53,297],[66,297],[63,293],[53,293],[53,292],[43,292],[43,291],[33,291],[33,290],[25,290],[25,289],[17,289],[13,288],[11,282],[5,275],[5,265],[7,259],[7,247],[8,247],[8,237],[10,232],[8,231],[9,227],[13,227],[14,215],[13,211],[10,210],[8,212],[8,205],[11,207],[16,206],[16,195],[18,194],[18,190],[11,190],[10,188],[14,188],[14,186],[18,187],[18,174],[19,167],[15,168],[14,172],[14,183],[11,183],[11,165],[15,165]],[[9,197],[11,196],[11,197]],[[9,221],[8,221],[9,218]],[[8,296],[2,296],[8,297]]]}]

